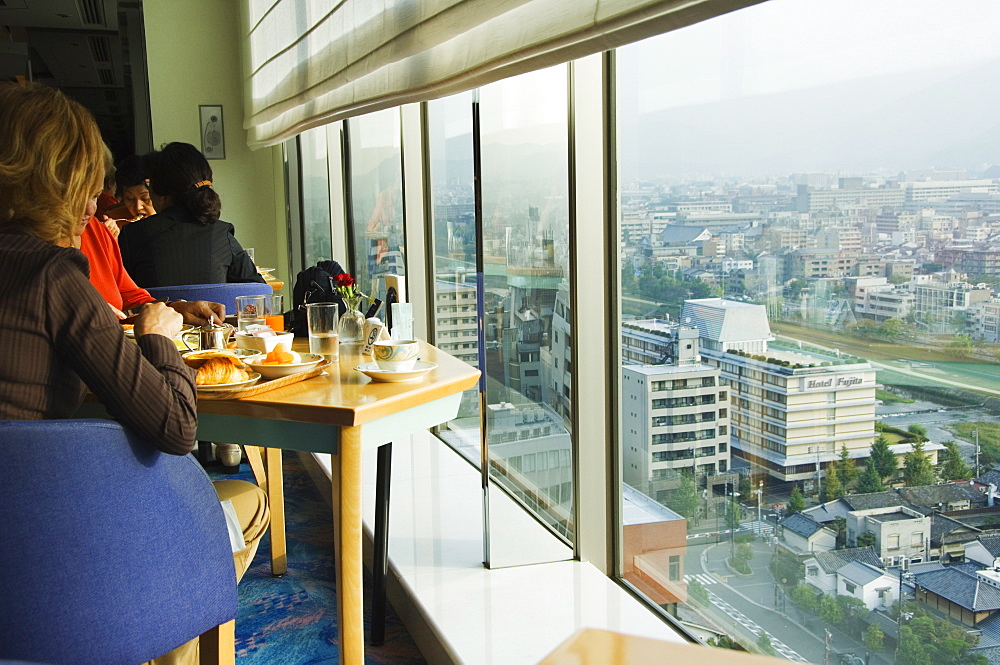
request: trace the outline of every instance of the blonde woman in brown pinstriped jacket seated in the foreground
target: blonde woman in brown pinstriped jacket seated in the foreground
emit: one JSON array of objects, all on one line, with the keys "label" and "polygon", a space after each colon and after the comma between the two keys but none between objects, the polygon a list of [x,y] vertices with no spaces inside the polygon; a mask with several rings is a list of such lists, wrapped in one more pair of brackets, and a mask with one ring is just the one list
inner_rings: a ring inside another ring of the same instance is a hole
[{"label": "blonde woman in brown pinstriped jacket seated in the foreground", "polygon": [[[197,404],[171,339],[181,315],[145,305],[133,344],[70,246],[96,211],[104,155],[80,104],[54,89],[0,83],[0,420],[72,417],[89,388],[140,438],[184,455],[194,446]],[[242,481],[216,490],[232,500],[243,529],[238,578],[267,528],[266,498]],[[196,660],[197,640],[156,662]]]}]

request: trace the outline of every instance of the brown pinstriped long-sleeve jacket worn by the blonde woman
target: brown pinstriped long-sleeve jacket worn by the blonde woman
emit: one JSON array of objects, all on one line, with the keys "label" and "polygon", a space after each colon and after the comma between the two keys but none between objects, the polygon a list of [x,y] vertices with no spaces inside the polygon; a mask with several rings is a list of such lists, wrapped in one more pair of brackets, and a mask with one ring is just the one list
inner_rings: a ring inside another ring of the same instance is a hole
[{"label": "brown pinstriped long-sleeve jacket worn by the blonde woman", "polygon": [[186,454],[193,372],[162,335],[126,339],[87,275],[76,249],[0,233],[0,419],[71,418],[89,387],[137,436]]}]

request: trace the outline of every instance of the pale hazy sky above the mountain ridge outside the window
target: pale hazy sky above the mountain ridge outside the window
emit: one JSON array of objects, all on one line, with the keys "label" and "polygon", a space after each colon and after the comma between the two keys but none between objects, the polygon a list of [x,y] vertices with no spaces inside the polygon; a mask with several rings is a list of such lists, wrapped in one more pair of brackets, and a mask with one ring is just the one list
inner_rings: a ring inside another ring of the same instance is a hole
[{"label": "pale hazy sky above the mountain ridge outside the window", "polygon": [[[637,45],[637,110],[1000,58],[997,0],[770,0]],[[623,50],[625,50],[623,49]],[[653,75],[655,72],[655,75]]]}]

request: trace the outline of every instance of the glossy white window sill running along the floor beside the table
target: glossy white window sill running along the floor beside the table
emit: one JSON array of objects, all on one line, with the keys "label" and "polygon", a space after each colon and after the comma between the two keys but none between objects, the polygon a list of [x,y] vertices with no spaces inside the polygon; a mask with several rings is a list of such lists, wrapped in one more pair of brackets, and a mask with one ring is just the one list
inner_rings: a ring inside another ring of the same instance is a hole
[{"label": "glossy white window sill running along the floor beside the table", "polygon": [[[315,460],[313,479],[329,497],[329,456],[300,456]],[[375,451],[363,464],[370,557]],[[479,473],[430,434],[393,446],[390,502],[390,601],[429,663],[534,665],[584,627],[687,642],[592,564],[486,569]],[[491,510],[535,525],[519,508]],[[543,529],[536,536],[564,548]]]}]

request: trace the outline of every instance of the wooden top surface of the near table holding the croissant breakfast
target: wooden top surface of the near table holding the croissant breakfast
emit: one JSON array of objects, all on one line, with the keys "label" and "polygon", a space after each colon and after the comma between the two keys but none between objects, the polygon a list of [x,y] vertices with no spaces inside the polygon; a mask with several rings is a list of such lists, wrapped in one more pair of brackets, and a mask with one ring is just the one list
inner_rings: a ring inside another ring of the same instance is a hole
[{"label": "wooden top surface of the near table holding the croissant breakfast", "polygon": [[[297,338],[293,348],[308,351],[309,342]],[[360,349],[360,344],[341,344],[340,362],[330,365],[322,376],[242,399],[199,400],[198,412],[324,425],[363,425],[468,390],[479,379],[475,367],[420,342],[420,359],[437,363],[437,369],[417,381],[377,382],[354,369],[372,362],[372,357],[362,356]]]}]

